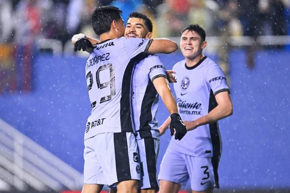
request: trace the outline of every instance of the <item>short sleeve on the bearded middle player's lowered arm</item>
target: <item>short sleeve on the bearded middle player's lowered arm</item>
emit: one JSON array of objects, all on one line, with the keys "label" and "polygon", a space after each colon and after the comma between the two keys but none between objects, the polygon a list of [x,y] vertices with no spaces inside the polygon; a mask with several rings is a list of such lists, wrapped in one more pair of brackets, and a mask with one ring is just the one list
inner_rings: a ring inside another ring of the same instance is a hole
[{"label": "short sleeve on the bearded middle player's lowered arm", "polygon": [[146,64],[150,68],[149,77],[152,82],[159,77],[167,78],[166,69],[158,56],[151,55],[151,57],[147,57]]}]

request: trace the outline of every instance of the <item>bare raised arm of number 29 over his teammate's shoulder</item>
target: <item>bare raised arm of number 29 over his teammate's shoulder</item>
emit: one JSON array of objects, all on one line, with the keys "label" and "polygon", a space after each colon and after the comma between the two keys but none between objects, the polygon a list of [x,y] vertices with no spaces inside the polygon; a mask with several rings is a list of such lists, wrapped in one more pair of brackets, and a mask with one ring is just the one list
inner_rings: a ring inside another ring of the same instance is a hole
[{"label": "bare raised arm of number 29 over his teammate's shoulder", "polygon": [[153,39],[147,51],[149,54],[170,54],[178,49],[176,42],[167,38]]}]

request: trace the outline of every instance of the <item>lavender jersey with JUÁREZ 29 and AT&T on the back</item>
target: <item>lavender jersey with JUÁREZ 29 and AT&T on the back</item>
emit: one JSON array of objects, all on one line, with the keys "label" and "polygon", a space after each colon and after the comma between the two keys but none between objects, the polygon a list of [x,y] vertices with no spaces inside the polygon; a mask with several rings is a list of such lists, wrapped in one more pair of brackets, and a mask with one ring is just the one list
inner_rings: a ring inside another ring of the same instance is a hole
[{"label": "lavender jersey with JU\u00c1REZ 29 and AT&T on the back", "polygon": [[151,39],[121,37],[97,44],[85,66],[92,106],[85,139],[100,133],[133,132],[130,83],[135,61],[145,57]]}]

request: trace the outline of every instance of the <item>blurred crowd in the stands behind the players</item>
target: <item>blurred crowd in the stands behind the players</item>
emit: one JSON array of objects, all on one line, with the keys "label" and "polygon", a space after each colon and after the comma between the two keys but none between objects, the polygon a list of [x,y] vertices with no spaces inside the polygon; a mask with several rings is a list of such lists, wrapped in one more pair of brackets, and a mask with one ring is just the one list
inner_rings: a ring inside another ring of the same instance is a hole
[{"label": "blurred crowd in the stands behind the players", "polygon": [[101,5],[121,8],[124,21],[133,11],[148,15],[153,37],[179,36],[194,23],[207,36],[290,34],[290,0],[0,0],[0,43],[94,37],[91,14]]}]

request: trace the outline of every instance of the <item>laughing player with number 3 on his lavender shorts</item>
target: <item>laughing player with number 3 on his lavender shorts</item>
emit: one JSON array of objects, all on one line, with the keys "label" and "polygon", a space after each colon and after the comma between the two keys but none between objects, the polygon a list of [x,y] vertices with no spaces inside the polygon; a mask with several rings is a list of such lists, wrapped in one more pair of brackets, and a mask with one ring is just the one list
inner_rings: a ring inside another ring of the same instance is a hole
[{"label": "laughing player with number 3 on his lavender shorts", "polygon": [[[190,180],[193,193],[219,188],[218,163],[221,135],[218,120],[233,114],[229,87],[221,68],[202,54],[205,31],[197,24],[181,31],[180,49],[185,57],[173,66],[180,84],[174,84],[179,114],[188,133],[171,140],[158,175],[159,193],[177,193]],[[170,117],[159,127],[164,134]]]}]

